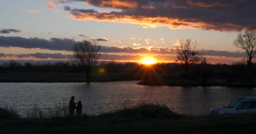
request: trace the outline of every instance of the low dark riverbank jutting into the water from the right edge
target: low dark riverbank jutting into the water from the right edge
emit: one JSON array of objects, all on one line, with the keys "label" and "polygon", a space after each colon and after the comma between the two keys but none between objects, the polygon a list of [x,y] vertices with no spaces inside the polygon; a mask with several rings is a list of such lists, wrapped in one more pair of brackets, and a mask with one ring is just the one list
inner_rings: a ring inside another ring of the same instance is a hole
[{"label": "low dark riverbank jutting into the water from the right edge", "polygon": [[224,86],[224,87],[256,87],[256,82],[248,82],[248,80],[221,80],[221,79],[210,79],[205,83],[203,80],[179,80],[179,79],[162,79],[162,80],[142,80],[139,85],[151,85],[151,86]]}]

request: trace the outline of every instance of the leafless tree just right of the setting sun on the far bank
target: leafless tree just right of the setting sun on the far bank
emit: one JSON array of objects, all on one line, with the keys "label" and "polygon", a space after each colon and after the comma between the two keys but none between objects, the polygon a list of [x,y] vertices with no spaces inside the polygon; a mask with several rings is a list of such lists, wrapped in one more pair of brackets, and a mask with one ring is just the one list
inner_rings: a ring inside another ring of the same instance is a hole
[{"label": "leafless tree just right of the setting sun on the far bank", "polygon": [[179,40],[179,45],[175,49],[177,58],[185,64],[186,71],[189,70],[189,64],[200,62],[200,54],[196,51],[196,48],[197,41],[192,43],[191,39],[187,39],[186,41],[181,39]]}]

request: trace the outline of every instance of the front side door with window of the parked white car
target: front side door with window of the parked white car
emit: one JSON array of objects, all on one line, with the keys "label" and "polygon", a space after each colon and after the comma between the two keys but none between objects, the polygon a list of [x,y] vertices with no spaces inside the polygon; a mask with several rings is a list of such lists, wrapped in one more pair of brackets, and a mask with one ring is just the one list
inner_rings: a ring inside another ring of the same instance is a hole
[{"label": "front side door with window of the parked white car", "polygon": [[244,101],[237,106],[236,113],[237,114],[251,113],[252,109],[254,109],[252,108],[252,101]]}]

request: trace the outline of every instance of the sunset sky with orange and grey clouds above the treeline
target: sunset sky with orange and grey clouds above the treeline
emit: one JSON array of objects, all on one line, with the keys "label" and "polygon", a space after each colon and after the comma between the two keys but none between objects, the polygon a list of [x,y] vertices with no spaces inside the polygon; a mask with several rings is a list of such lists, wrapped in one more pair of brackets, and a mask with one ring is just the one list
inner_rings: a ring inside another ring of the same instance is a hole
[{"label": "sunset sky with orange and grey clouds above the treeline", "polygon": [[234,46],[255,28],[255,0],[1,0],[0,60],[70,60],[98,40],[100,60],[174,62],[177,41],[197,41],[212,64],[244,62]]}]

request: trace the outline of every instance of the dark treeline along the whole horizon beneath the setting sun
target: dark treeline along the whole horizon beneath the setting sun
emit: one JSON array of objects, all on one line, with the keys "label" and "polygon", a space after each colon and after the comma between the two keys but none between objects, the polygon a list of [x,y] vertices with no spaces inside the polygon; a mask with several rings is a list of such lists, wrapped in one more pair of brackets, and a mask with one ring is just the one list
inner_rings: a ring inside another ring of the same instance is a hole
[{"label": "dark treeline along the whole horizon beneath the setting sun", "polygon": [[[143,65],[134,62],[99,62],[91,70],[93,74],[99,73],[118,73],[134,74],[136,77],[147,79],[148,77],[163,77],[165,79],[224,79],[234,80],[252,80],[256,77],[256,66],[248,66],[243,63],[237,64],[191,64],[189,71],[185,70],[184,64],[179,63],[157,63],[154,65]],[[55,63],[36,63],[26,62],[21,64],[16,61],[10,61],[0,65],[1,72],[85,72],[84,67],[79,62],[55,62]]]}]

